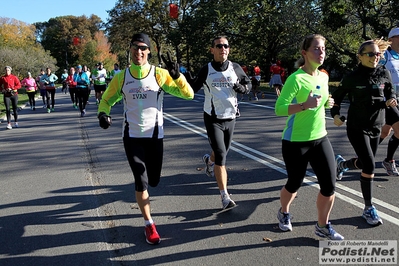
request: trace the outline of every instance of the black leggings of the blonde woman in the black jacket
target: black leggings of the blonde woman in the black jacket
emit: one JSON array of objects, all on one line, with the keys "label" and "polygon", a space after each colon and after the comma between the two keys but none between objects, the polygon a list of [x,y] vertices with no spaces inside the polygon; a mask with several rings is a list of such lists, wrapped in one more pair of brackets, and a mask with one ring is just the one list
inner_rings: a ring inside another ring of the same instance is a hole
[{"label": "black leggings of the blonde woman in the black jacket", "polygon": [[377,153],[380,134],[370,136],[364,133],[363,130],[352,128],[347,128],[346,134],[359,160],[356,166],[361,166],[362,172],[365,174],[374,174],[375,154]]}]

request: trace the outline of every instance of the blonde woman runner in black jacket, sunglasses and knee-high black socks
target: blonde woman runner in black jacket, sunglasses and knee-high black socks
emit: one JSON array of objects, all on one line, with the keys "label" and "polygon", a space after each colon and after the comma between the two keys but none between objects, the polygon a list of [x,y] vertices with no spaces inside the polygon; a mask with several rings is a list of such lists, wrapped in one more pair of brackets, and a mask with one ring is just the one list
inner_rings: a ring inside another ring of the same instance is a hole
[{"label": "blonde woman runner in black jacket, sunglasses and knee-high black socks", "polygon": [[[336,156],[337,179],[349,169],[362,169],[360,185],[365,208],[362,217],[371,225],[382,224],[376,208],[372,205],[372,182],[381,127],[385,123],[385,109],[397,105],[389,71],[377,66],[381,50],[385,48],[382,40],[370,40],[362,43],[358,51],[358,68],[341,81],[332,94],[335,104],[331,109],[334,124],[341,126],[341,102],[348,95],[349,109],[347,135],[358,158],[348,161],[341,155]],[[381,49],[382,48],[382,49]],[[397,108],[392,108],[397,110]]]}]

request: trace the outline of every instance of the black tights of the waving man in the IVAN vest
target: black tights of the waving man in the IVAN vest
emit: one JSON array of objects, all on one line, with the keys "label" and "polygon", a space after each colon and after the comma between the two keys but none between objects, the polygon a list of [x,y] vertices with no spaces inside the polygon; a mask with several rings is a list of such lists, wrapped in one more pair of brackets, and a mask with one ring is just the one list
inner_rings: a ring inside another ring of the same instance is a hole
[{"label": "black tights of the waving man in the IVAN vest", "polygon": [[148,185],[156,187],[161,179],[163,139],[123,138],[123,145],[132,169],[136,191],[145,191]]}]

